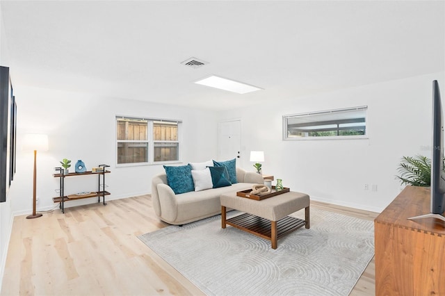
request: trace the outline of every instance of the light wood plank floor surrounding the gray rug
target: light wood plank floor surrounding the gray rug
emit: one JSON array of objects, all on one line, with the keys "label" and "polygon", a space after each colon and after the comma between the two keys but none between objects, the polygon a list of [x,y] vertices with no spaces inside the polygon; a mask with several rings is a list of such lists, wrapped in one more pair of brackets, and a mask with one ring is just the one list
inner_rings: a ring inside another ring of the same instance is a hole
[{"label": "light wood plank floor surrounding the gray rug", "polygon": [[[373,220],[377,213],[311,206]],[[168,226],[149,195],[17,216],[1,295],[203,295],[137,238]],[[374,260],[350,295],[375,295]]]}]

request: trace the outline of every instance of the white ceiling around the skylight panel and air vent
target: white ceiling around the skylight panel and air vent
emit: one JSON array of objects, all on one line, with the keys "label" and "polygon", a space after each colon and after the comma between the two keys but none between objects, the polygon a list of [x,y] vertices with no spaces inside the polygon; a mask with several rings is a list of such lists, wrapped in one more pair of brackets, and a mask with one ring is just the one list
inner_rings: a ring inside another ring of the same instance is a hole
[{"label": "white ceiling around the skylight panel and air vent", "polygon": [[[0,1],[15,88],[213,110],[441,72],[444,1]],[[209,65],[181,65],[191,58]],[[196,85],[216,74],[264,90]]]}]

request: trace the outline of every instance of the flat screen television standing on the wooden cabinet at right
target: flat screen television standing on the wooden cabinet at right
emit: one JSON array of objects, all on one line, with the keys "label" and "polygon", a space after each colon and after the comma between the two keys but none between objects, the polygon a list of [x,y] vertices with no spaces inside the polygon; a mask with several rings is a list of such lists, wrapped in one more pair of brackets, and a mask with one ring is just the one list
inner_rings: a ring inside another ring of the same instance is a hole
[{"label": "flat screen television standing on the wooden cabinet at right", "polygon": [[432,146],[430,213],[408,219],[437,218],[445,221],[444,113],[439,83],[432,81]]}]

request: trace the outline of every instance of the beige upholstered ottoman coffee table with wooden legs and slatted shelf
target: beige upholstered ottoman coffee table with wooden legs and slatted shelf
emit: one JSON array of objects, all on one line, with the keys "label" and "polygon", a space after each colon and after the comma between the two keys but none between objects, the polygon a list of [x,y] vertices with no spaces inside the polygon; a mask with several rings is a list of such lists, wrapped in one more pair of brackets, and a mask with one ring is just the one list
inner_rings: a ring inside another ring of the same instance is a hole
[{"label": "beige upholstered ottoman coffee table with wooden legs and slatted shelf", "polygon": [[[300,192],[286,192],[268,199],[254,200],[238,197],[236,192],[223,194],[221,199],[221,227],[226,224],[247,231],[272,243],[277,249],[277,240],[285,234],[299,229],[303,225],[307,229],[309,223],[309,195]],[[227,219],[227,208],[245,212],[242,215]],[[305,208],[305,220],[289,217],[291,213]]]}]

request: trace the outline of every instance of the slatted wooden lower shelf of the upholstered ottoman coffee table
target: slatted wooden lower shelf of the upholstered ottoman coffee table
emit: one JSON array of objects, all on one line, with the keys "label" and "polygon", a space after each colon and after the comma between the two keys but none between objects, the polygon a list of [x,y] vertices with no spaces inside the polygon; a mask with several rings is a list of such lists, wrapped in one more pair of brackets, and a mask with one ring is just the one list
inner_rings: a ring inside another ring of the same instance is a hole
[{"label": "slatted wooden lower shelf of the upholstered ottoman coffee table", "polygon": [[[271,225],[270,220],[264,219],[255,215],[244,213],[236,217],[232,217],[226,220],[226,224],[232,227],[247,231],[260,238],[266,238],[271,240]],[[277,238],[280,239],[287,233],[299,229],[306,225],[305,220],[298,219],[296,217],[286,216],[277,221]]]}]

